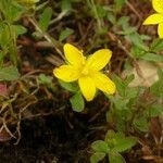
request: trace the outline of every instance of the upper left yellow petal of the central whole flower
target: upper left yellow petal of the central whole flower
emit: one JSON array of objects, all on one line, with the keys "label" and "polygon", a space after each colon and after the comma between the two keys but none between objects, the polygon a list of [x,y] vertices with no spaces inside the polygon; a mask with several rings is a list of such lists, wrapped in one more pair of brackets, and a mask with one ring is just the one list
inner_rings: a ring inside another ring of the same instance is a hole
[{"label": "upper left yellow petal of the central whole flower", "polygon": [[82,66],[85,63],[85,57],[83,52],[78,50],[76,47],[65,43],[64,47],[64,54],[66,60],[74,66]]}]

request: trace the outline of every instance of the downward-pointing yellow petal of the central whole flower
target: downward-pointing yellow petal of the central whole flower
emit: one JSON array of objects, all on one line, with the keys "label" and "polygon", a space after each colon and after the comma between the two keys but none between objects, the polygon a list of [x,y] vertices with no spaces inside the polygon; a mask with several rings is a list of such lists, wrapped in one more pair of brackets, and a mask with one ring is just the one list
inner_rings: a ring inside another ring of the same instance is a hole
[{"label": "downward-pointing yellow petal of the central whole flower", "polygon": [[86,100],[91,101],[96,95],[96,87],[93,80],[88,76],[80,77],[78,79],[78,85]]}]

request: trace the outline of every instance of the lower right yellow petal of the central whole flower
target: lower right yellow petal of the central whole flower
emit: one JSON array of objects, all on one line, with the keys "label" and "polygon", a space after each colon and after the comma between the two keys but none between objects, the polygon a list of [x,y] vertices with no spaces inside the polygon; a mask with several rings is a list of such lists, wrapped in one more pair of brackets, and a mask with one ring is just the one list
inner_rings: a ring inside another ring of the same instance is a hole
[{"label": "lower right yellow petal of the central whole flower", "polygon": [[97,72],[92,75],[92,79],[98,89],[109,95],[113,95],[115,92],[115,84],[104,74]]}]

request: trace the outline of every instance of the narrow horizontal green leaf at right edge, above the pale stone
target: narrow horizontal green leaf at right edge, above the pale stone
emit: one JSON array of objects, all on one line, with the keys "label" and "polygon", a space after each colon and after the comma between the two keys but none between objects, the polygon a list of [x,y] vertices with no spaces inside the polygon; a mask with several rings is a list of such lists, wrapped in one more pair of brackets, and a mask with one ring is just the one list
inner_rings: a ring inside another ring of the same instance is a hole
[{"label": "narrow horizontal green leaf at right edge, above the pale stone", "polygon": [[155,53],[145,53],[143,55],[140,57],[140,59],[146,60],[146,61],[153,61],[153,62],[162,62],[163,61],[163,57],[162,55],[158,55]]}]

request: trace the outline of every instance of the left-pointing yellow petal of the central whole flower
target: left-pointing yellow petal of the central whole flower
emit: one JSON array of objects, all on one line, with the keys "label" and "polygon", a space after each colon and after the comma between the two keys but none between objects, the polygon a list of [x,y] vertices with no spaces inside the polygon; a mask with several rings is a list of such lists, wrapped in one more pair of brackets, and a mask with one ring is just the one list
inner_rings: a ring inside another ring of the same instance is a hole
[{"label": "left-pointing yellow petal of the central whole flower", "polygon": [[55,77],[64,80],[64,82],[74,82],[78,79],[79,72],[72,65],[61,65],[58,68],[53,70],[53,74]]}]

